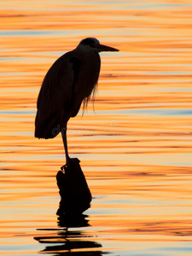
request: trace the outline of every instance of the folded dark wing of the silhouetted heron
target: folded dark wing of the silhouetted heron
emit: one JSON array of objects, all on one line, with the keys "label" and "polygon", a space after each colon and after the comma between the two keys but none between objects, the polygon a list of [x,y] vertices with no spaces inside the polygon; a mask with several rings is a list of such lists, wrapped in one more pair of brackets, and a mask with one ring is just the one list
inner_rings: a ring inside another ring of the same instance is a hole
[{"label": "folded dark wing of the silhouetted heron", "polygon": [[67,111],[65,106],[73,97],[73,86],[79,67],[79,59],[73,57],[73,52],[68,52],[49,68],[38,95],[35,137],[46,137],[46,131],[63,121]]}]

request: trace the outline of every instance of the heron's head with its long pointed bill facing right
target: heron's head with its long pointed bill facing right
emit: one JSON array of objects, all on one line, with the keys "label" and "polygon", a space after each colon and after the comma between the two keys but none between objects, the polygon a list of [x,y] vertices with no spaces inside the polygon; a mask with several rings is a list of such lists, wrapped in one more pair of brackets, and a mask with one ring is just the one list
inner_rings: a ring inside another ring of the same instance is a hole
[{"label": "heron's head with its long pointed bill facing right", "polygon": [[78,45],[77,49],[80,51],[90,52],[90,51],[119,51],[119,49],[115,49],[113,47],[109,47],[107,45],[103,45],[99,43],[99,40],[96,38],[85,38],[83,39],[80,44]]}]

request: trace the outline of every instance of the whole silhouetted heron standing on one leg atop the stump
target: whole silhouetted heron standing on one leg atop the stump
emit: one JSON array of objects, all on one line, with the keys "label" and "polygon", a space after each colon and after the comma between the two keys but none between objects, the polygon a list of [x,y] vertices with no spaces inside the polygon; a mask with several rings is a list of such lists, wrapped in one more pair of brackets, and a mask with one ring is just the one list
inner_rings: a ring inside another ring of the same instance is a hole
[{"label": "whole silhouetted heron standing on one leg atop the stump", "polygon": [[86,107],[94,94],[100,73],[101,51],[118,51],[99,43],[96,38],[85,38],[76,49],[62,55],[44,77],[38,95],[35,137],[53,138],[61,132],[66,151],[67,121],[79,112],[81,103]]}]

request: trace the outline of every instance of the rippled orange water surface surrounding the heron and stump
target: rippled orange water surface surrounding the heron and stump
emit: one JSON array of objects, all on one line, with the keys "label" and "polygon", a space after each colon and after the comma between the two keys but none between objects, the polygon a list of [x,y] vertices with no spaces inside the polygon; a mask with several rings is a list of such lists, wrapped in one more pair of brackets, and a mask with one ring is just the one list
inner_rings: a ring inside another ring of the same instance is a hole
[{"label": "rippled orange water surface surrounding the heron and stump", "polygon": [[[1,1],[0,251],[3,255],[192,254],[192,3]],[[51,64],[82,38],[102,53],[95,112],[68,124],[93,195],[80,219],[55,214],[61,135],[38,140]],[[68,228],[67,228],[68,227]]]}]

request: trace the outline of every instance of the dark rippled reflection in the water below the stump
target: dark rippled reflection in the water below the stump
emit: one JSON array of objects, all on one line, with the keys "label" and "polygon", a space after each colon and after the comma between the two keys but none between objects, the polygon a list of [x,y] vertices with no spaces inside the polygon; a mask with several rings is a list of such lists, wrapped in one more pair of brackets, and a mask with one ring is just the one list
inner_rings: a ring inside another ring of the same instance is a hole
[{"label": "dark rippled reflection in the water below the stump", "polygon": [[[67,228],[89,226],[87,215],[79,214],[78,216],[69,217],[62,214],[58,220],[58,225],[63,229],[41,229],[46,235],[36,236],[34,239],[40,243],[46,244],[44,250],[40,253],[51,253],[51,255],[82,255],[82,256],[102,256],[102,245],[96,241],[90,241],[91,236],[86,232],[78,230],[68,230]],[[49,235],[48,231],[51,232]],[[54,231],[57,233],[53,234]],[[94,249],[95,248],[95,249]],[[99,248],[99,249],[98,249]],[[75,250],[75,251],[73,251]],[[107,252],[105,254],[108,254]]]}]

